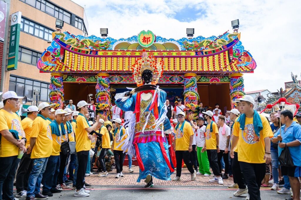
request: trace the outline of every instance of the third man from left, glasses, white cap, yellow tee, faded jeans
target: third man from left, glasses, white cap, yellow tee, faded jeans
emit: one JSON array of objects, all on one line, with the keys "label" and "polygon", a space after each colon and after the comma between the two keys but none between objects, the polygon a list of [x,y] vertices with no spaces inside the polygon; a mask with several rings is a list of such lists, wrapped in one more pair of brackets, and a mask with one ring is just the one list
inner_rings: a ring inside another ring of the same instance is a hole
[{"label": "third man from left, glasses, white cap, yellow tee, faded jeans", "polygon": [[39,114],[33,121],[33,129],[30,136],[29,153],[33,160],[33,168],[29,175],[26,200],[47,199],[40,193],[40,185],[45,172],[48,158],[52,154],[52,136],[47,119],[54,104],[47,102],[40,103],[38,106]]}]

